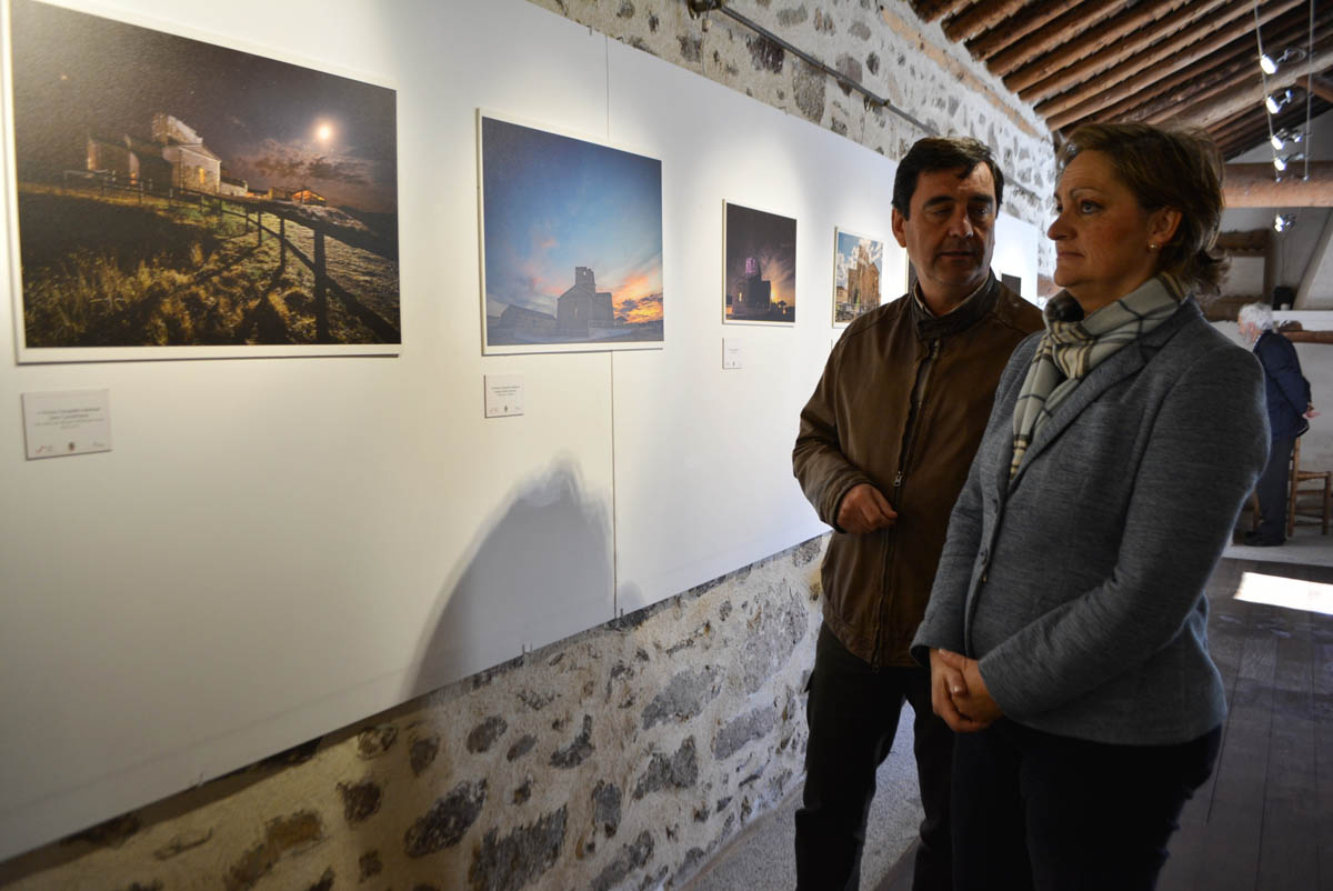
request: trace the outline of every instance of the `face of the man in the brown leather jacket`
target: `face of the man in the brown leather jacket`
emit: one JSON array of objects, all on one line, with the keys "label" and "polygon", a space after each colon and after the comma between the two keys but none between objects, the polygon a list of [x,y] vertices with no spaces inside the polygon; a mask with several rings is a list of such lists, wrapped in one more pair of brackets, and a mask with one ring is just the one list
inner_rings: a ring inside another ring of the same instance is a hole
[{"label": "face of the man in the brown leather jacket", "polygon": [[926,300],[952,308],[990,271],[997,209],[990,168],[925,171],[908,209],[906,217],[893,209],[893,237],[908,249]]}]

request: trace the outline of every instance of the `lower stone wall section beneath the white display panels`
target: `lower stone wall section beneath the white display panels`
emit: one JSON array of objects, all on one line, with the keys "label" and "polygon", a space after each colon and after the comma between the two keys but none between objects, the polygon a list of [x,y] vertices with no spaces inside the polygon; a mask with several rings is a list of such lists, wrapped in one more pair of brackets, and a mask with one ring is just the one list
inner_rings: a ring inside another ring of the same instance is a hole
[{"label": "lower stone wall section beneath the white display panels", "polygon": [[678,887],[801,779],[822,546],[19,856],[0,886]]}]

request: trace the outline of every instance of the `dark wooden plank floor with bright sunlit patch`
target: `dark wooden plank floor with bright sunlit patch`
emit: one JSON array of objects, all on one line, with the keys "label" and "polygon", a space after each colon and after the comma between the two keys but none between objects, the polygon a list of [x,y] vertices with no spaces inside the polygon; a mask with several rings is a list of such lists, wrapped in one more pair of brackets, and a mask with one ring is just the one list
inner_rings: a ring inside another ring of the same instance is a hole
[{"label": "dark wooden plank floor with bright sunlit patch", "polygon": [[[1333,891],[1333,616],[1234,599],[1242,574],[1333,584],[1333,568],[1222,560],[1209,646],[1230,711],[1158,891]],[[877,891],[909,891],[912,851]]]}]

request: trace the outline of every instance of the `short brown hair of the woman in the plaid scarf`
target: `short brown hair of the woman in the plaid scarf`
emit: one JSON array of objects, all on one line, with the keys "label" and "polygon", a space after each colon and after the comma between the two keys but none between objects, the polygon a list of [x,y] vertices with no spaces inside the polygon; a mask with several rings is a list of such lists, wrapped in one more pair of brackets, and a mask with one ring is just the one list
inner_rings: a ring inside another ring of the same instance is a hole
[{"label": "short brown hair of the woman in the plaid scarf", "polygon": [[1202,129],[1149,124],[1084,124],[1056,153],[1064,173],[1080,152],[1101,152],[1145,211],[1180,211],[1180,227],[1157,259],[1188,291],[1218,289],[1226,260],[1214,249],[1222,219],[1222,156]]}]

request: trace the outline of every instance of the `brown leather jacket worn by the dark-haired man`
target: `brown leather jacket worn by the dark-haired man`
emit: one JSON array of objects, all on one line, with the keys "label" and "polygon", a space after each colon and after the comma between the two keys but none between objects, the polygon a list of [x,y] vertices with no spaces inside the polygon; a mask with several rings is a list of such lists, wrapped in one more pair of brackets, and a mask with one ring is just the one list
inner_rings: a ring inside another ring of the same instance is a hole
[{"label": "brown leather jacket worn by the dark-haired man", "polygon": [[[824,622],[872,666],[917,664],[908,647],[1000,372],[1041,327],[1041,312],[992,276],[942,317],[910,296],[873,309],[829,353],[801,411],[792,466],[834,530],[822,567]],[[884,492],[894,526],[868,535],[837,528],[842,496],[860,483]]]}]

